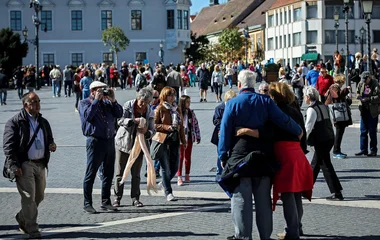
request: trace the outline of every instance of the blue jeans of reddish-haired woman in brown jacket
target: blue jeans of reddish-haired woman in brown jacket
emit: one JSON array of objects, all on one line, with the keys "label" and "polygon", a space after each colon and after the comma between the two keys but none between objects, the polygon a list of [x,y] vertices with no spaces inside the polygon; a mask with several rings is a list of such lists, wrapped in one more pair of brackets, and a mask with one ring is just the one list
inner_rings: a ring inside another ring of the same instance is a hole
[{"label": "blue jeans of reddish-haired woman in brown jacket", "polygon": [[162,168],[162,185],[165,188],[165,195],[173,193],[170,181],[176,175],[179,165],[179,143],[170,144],[168,150],[164,151],[160,159]]}]

